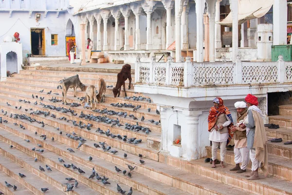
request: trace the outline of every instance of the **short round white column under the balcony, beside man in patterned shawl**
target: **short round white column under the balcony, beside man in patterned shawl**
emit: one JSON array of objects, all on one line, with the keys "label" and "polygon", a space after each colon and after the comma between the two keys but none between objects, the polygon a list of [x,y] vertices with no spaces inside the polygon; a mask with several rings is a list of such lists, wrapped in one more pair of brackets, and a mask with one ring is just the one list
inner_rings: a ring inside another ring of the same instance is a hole
[{"label": "short round white column under the balcony, beside man in patterned shawl", "polygon": [[187,160],[198,159],[199,156],[199,111],[183,111],[182,149]]}]

